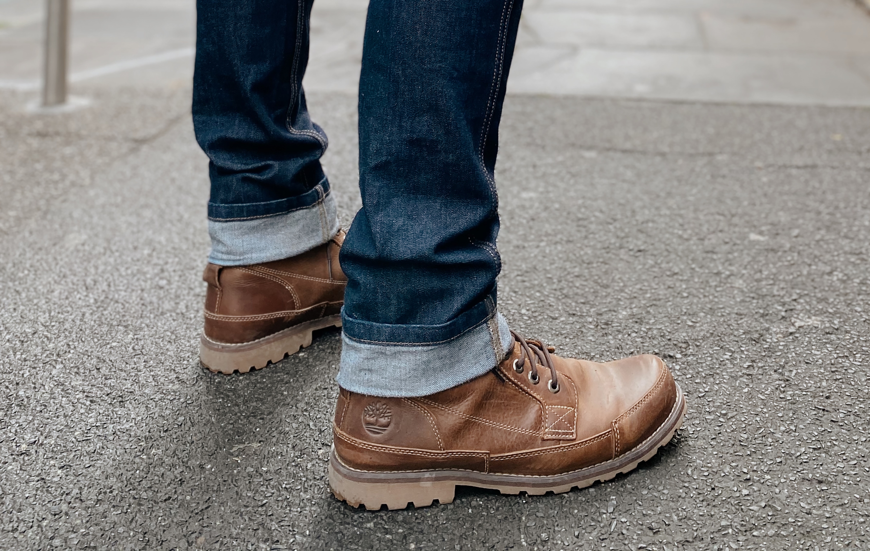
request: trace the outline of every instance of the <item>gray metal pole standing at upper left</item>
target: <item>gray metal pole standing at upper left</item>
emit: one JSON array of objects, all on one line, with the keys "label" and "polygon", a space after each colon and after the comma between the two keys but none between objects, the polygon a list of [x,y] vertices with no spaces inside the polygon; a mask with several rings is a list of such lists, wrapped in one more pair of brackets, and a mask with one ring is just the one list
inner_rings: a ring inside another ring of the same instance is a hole
[{"label": "gray metal pole standing at upper left", "polygon": [[45,0],[43,107],[66,103],[70,0]]}]

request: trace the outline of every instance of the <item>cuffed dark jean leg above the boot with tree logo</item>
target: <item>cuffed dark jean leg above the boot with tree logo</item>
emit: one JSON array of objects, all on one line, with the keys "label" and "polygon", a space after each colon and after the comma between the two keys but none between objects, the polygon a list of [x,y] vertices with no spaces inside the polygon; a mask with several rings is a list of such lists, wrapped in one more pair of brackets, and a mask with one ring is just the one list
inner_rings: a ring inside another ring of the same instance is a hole
[{"label": "cuffed dark jean leg above the boot with tree logo", "polygon": [[359,84],[363,208],[338,382],[427,395],[482,375],[511,337],[497,311],[501,106],[521,0],[371,0]]}]

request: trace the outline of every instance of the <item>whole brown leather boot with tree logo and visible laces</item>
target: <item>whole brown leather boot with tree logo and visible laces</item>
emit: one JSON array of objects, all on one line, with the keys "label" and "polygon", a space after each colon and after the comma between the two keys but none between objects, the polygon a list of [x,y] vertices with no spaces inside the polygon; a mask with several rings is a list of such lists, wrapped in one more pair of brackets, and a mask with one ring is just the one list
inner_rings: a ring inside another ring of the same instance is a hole
[{"label": "whole brown leather boot with tree logo and visible laces", "polygon": [[513,336],[499,366],[434,395],[342,388],[332,493],[353,507],[395,509],[449,503],[457,485],[566,492],[632,470],[682,423],[686,400],[657,356],[585,362]]}]

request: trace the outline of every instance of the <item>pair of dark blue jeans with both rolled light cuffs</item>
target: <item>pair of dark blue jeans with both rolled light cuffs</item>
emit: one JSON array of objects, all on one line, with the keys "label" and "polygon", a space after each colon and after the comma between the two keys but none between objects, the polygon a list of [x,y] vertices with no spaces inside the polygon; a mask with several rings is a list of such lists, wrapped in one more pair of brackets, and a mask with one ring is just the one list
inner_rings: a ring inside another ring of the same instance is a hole
[{"label": "pair of dark blue jeans with both rolled light cuffs", "polygon": [[[292,256],[338,231],[305,110],[311,2],[198,0],[193,116],[211,159],[211,262]],[[371,0],[359,83],[363,208],[338,382],[428,395],[491,369],[511,337],[493,170],[521,0]]]}]

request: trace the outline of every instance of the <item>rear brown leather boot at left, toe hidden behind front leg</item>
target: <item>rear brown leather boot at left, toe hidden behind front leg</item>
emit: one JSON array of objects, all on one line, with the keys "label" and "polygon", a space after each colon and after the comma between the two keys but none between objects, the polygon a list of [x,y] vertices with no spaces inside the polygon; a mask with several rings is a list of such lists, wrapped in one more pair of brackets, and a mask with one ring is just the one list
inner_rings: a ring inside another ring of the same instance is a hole
[{"label": "rear brown leather boot at left, toe hidden behind front leg", "polygon": [[275,262],[205,267],[205,327],[199,360],[227,375],[264,368],[311,345],[311,332],[341,327],[347,278],[339,231],[315,249]]}]

